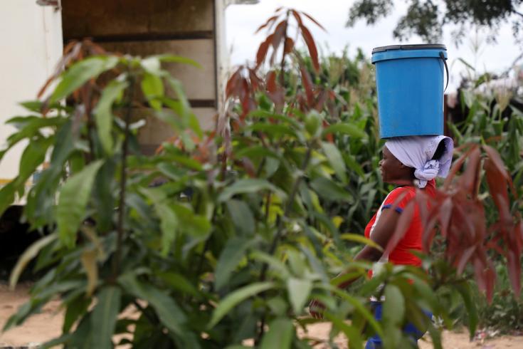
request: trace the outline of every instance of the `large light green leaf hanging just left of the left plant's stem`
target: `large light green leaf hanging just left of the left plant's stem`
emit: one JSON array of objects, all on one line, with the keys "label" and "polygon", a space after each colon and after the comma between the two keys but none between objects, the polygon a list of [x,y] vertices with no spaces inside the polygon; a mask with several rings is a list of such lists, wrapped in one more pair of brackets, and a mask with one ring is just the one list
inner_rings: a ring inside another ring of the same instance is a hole
[{"label": "large light green leaf hanging just left of the left plant's stem", "polygon": [[85,218],[85,209],[93,189],[93,182],[102,165],[102,160],[90,163],[82,171],[70,177],[60,189],[56,223],[58,236],[65,246],[75,245],[76,232]]}]

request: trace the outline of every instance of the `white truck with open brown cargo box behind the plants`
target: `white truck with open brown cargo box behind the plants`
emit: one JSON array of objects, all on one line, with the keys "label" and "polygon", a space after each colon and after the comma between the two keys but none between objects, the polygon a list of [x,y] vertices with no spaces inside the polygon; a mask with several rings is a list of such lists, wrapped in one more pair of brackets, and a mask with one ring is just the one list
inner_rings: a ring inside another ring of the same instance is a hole
[{"label": "white truck with open brown cargo box behind the plants", "polygon": [[[202,127],[214,125],[223,103],[228,69],[224,11],[229,4],[257,0],[1,0],[0,149],[13,128],[5,121],[25,115],[18,103],[36,98],[56,68],[64,43],[91,38],[107,51],[139,56],[158,53],[192,58],[203,68],[172,66]],[[169,127],[149,120],[139,134],[142,152],[151,153],[170,137]],[[0,187],[14,178],[25,145],[0,162]],[[31,186],[31,181],[27,183]],[[20,199],[16,204],[23,204]],[[4,215],[5,216],[5,215]],[[6,217],[1,231],[8,229]]]}]

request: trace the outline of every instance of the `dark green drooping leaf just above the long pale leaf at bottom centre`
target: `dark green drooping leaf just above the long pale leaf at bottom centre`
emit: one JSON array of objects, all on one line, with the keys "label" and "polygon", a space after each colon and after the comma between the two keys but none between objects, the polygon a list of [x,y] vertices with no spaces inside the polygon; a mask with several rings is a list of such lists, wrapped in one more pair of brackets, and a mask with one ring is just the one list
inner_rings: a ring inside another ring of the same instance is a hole
[{"label": "dark green drooping leaf just above the long pale leaf at bottom centre", "polygon": [[253,239],[233,238],[227,241],[225,247],[221,251],[218,264],[215,269],[215,284],[216,290],[221,290],[226,286],[234,269],[243,259],[245,251],[255,244]]}]

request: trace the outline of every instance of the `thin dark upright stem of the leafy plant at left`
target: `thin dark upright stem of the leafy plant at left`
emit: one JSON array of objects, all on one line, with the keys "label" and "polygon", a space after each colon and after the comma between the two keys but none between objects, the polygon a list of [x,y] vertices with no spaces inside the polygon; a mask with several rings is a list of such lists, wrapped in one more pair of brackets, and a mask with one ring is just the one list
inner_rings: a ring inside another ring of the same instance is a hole
[{"label": "thin dark upright stem of the leafy plant at left", "polygon": [[134,99],[134,76],[130,75],[129,89],[125,98],[125,132],[122,145],[122,174],[120,178],[120,204],[118,205],[118,225],[115,259],[112,262],[112,276],[116,278],[120,272],[120,259],[122,258],[122,240],[124,236],[124,216],[125,216],[125,186],[127,184],[127,155],[129,153],[129,125],[132,115],[132,100]]}]

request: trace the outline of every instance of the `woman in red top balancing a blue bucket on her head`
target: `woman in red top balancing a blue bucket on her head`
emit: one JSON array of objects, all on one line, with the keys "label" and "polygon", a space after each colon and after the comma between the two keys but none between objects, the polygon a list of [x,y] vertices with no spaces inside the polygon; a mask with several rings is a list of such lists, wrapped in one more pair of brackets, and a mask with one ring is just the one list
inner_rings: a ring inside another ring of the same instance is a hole
[{"label": "woman in red top balancing a blue bucket on her head", "polygon": [[[443,133],[443,45],[385,46],[373,50],[380,135],[387,141],[379,162],[384,182],[395,184],[378,212],[367,224],[364,234],[386,249],[406,205],[422,190],[435,196],[435,177],[445,177],[453,156],[453,141]],[[423,226],[418,207],[411,223],[388,255],[365,246],[355,261],[391,262],[396,265],[421,266],[412,251],[422,251]],[[369,274],[372,275],[372,272]],[[346,288],[355,280],[339,285]],[[374,317],[381,321],[381,300],[372,300]],[[322,304],[310,303],[314,318],[322,318]],[[428,316],[432,316],[427,312]],[[413,341],[423,335],[413,324],[403,328]],[[381,338],[369,338],[366,349],[381,348]]]}]

